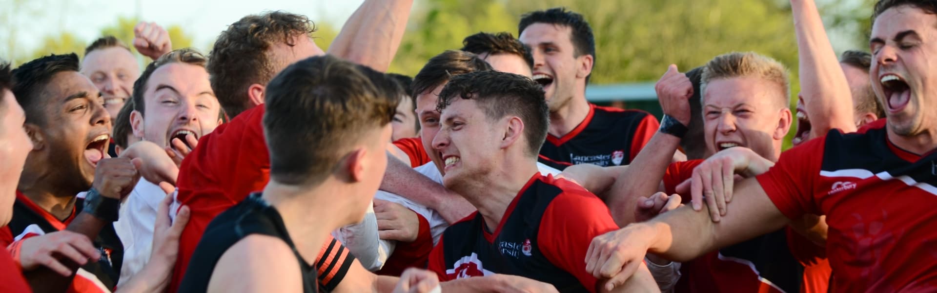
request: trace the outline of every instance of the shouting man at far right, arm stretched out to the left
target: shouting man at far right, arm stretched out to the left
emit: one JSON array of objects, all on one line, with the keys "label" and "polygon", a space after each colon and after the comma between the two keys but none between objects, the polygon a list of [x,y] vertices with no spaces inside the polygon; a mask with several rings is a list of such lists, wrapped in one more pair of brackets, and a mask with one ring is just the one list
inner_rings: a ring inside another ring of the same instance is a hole
[{"label": "shouting man at far right, arm stretched out to the left", "polygon": [[[937,54],[925,37],[937,31],[935,14],[935,1],[875,5],[870,75],[886,120],[857,133],[830,131],[782,153],[766,173],[735,184],[732,212],[719,224],[708,221],[706,212],[680,208],[594,239],[587,260],[594,275],[627,277],[630,270],[622,266],[648,252],[686,260],[812,213],[825,215],[828,224],[830,288],[937,288],[937,258],[921,244],[937,241],[927,228],[937,223],[937,212],[930,208],[937,204],[931,188],[937,184],[931,163],[937,148],[931,122],[937,119],[932,105],[937,92],[930,86],[935,67],[925,61]],[[718,195],[710,188],[692,193]]]}]

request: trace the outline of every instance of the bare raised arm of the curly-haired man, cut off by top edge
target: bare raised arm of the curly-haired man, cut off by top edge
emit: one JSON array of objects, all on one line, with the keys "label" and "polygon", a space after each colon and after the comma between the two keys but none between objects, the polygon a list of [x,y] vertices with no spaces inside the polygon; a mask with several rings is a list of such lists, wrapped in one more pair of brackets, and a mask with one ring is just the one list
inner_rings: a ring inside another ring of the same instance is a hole
[{"label": "bare raised arm of the curly-haired man, cut off by top edge", "polygon": [[386,71],[400,47],[413,0],[365,0],[329,46],[328,54]]}]

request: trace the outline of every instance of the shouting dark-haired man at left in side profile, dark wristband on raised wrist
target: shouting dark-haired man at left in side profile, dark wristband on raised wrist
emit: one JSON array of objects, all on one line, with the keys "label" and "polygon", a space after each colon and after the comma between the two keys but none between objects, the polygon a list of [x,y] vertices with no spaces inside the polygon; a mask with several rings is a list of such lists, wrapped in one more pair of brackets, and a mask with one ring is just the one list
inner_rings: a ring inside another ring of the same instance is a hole
[{"label": "shouting dark-haired man at left in side profile, dark wristband on raised wrist", "polygon": [[[100,253],[99,259],[63,261],[71,265],[67,270],[74,282],[50,282],[49,273],[56,278],[56,272],[41,268],[26,271],[37,291],[59,285],[80,292],[114,287],[124,249],[111,223],[120,198],[139,178],[129,159],[106,159],[111,116],[95,85],[79,73],[78,64],[75,54],[49,55],[13,70],[13,93],[26,113],[24,128],[33,147],[22,169],[13,219],[0,230],[0,244],[12,243],[9,247],[17,258],[21,248],[44,244],[37,236],[70,230],[94,239]],[[85,197],[76,196],[85,191]]]}]

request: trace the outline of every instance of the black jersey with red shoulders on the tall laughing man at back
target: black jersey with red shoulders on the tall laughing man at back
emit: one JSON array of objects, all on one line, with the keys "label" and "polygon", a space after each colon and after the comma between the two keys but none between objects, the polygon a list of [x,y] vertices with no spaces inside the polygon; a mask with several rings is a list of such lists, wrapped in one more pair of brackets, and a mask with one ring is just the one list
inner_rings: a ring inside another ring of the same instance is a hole
[{"label": "black jersey with red shoulders on the tall laughing man at back", "polygon": [[586,119],[563,137],[546,135],[540,162],[563,170],[580,163],[626,165],[654,136],[661,123],[644,111],[589,104]]}]

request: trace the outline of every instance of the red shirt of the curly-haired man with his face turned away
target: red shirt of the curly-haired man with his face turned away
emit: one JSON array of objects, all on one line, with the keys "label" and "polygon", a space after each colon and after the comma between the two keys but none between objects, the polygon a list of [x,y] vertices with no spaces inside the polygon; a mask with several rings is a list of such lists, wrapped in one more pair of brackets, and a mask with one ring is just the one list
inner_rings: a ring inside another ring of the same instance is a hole
[{"label": "red shirt of the curly-haired man with his face turned away", "polygon": [[[189,259],[212,219],[260,191],[270,179],[270,155],[263,138],[262,105],[219,125],[199,139],[179,167],[176,200],[189,208],[186,229],[179,239],[179,259],[172,272],[170,292],[178,290]],[[341,242],[322,247],[319,254],[320,291],[331,291],[348,272],[354,256]],[[339,247],[341,249],[335,249]]]}]

